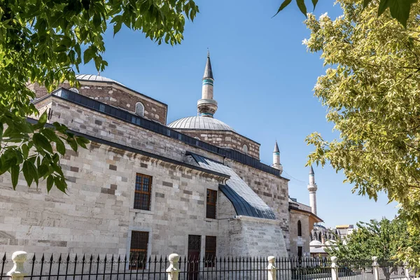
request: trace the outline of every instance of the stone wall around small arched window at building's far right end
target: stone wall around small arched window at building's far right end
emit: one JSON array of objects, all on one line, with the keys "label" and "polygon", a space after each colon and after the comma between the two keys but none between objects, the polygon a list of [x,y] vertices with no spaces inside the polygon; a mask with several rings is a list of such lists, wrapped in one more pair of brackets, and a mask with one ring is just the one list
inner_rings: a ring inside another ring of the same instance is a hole
[{"label": "stone wall around small arched window at building's far right end", "polygon": [[[300,221],[302,227],[302,236],[297,235],[297,221]],[[309,215],[298,211],[290,211],[290,256],[297,257],[297,247],[302,246],[302,255],[309,257]]]}]

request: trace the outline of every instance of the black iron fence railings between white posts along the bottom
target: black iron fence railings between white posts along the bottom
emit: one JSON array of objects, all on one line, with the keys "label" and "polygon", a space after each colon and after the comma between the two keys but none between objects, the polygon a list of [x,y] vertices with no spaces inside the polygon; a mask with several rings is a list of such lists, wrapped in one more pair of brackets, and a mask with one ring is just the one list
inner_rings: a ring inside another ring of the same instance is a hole
[{"label": "black iron fence railings between white posts along the bottom", "polygon": [[[165,256],[153,256],[147,260],[127,259],[125,255],[53,255],[28,254],[25,262],[25,279],[52,280],[166,280],[170,263]],[[179,260],[180,280],[207,279],[255,279],[268,278],[265,257],[186,258]],[[405,278],[400,264],[383,260],[380,279],[374,279],[372,260],[339,260],[338,274],[345,280],[385,280]],[[310,280],[331,279],[329,258],[276,258],[276,279]],[[11,255],[0,260],[0,280],[6,276],[13,262]],[[396,269],[396,270],[395,270]]]}]

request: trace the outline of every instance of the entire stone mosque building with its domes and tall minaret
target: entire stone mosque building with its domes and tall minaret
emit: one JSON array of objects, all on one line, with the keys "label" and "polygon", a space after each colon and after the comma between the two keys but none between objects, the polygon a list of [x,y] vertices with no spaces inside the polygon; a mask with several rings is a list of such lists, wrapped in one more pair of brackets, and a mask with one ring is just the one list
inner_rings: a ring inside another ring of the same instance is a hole
[{"label": "entire stone mosque building with its domes and tall minaret", "polygon": [[260,144],[214,118],[209,55],[199,116],[169,125],[166,104],[99,75],[77,78],[80,87],[63,83],[51,94],[29,85],[48,123],[90,144],[77,153],[66,147],[60,160],[67,194],[46,193],[44,182],[27,188],[22,176],[15,191],[0,176],[0,251],[309,253],[307,233],[321,220],[289,200],[277,144],[265,165]]}]

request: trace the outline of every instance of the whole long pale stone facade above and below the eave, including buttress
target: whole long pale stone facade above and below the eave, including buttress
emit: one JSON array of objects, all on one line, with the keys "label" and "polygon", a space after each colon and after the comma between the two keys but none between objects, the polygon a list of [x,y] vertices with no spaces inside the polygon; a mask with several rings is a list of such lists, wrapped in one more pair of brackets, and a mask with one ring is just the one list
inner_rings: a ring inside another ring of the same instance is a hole
[{"label": "whole long pale stone facade above and below the eave, including buttress", "polygon": [[[15,191],[0,176],[0,251],[127,254],[132,230],[140,230],[149,232],[148,255],[186,255],[188,235],[202,237],[202,253],[205,237],[215,236],[217,255],[287,255],[287,179],[64,99],[50,96],[36,106],[50,110],[49,123],[95,138],[61,160],[68,195],[48,194],[43,183],[27,188],[23,177]],[[207,189],[228,178],[190,165],[188,152],[235,170],[276,220],[235,215],[221,191],[216,219],[206,218]],[[137,173],[152,177],[150,211],[133,208]]]}]

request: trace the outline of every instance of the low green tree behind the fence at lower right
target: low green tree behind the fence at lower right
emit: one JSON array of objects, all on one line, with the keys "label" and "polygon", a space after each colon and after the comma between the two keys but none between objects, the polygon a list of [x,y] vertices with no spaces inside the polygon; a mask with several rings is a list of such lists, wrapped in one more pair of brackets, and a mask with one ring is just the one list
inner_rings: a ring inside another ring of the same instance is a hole
[{"label": "low green tree behind the fence at lower right", "polygon": [[409,234],[406,221],[382,218],[381,221],[358,223],[357,229],[346,239],[337,239],[336,246],[330,246],[325,251],[340,260],[371,260],[373,256],[391,260],[407,248],[420,250],[420,237]]}]

